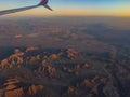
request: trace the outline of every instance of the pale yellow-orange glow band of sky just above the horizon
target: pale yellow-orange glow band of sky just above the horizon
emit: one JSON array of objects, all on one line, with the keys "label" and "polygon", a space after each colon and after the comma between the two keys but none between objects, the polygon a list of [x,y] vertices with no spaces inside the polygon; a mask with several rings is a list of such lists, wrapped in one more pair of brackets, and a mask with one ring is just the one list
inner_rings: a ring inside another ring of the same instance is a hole
[{"label": "pale yellow-orange glow band of sky just above the horizon", "polygon": [[[2,9],[2,8],[1,8]],[[11,16],[130,16],[130,11],[126,9],[115,9],[112,11],[95,9],[55,9],[49,11],[44,8],[37,8],[24,12],[13,13]]]}]

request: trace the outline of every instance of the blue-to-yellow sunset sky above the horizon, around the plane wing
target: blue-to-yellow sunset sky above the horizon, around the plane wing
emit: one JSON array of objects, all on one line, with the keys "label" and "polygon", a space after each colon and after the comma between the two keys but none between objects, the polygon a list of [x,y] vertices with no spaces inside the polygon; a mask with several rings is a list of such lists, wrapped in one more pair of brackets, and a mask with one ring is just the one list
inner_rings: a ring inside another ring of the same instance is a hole
[{"label": "blue-to-yellow sunset sky above the horizon, around the plane wing", "polygon": [[[0,10],[35,5],[40,0],[0,0]],[[130,16],[130,0],[50,0],[53,12],[40,6],[15,16]]]}]

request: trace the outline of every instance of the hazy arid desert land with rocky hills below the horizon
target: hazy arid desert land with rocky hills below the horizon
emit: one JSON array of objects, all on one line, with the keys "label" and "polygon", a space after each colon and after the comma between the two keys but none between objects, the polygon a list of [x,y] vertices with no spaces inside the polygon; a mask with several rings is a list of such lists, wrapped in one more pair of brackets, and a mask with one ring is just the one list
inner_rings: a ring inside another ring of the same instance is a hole
[{"label": "hazy arid desert land with rocky hills below the horizon", "polygon": [[130,97],[130,20],[0,22],[0,97]]}]

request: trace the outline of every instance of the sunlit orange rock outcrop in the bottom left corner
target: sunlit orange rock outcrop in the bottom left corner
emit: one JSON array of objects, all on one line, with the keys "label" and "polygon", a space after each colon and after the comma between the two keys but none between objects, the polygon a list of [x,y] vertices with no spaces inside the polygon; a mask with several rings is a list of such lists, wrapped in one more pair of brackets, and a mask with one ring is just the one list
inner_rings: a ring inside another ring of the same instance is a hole
[{"label": "sunlit orange rock outcrop in the bottom left corner", "polygon": [[38,94],[42,89],[43,85],[24,83],[15,77],[6,79],[0,86],[0,97],[39,97]]}]

